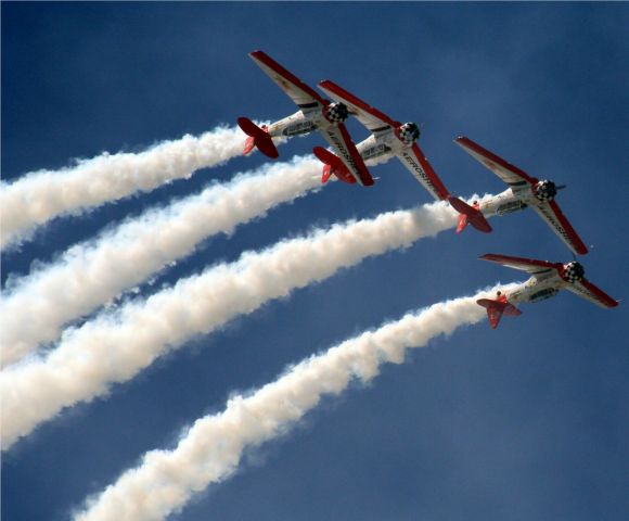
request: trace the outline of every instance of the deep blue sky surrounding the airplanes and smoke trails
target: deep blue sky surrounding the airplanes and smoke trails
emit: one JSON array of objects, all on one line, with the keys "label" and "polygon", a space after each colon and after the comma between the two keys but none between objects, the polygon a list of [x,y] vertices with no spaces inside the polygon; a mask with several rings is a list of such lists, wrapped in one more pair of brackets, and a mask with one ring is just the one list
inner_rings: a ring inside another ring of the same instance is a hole
[{"label": "deep blue sky surrounding the airplanes and smoke trails", "polygon": [[[624,3],[7,3],[2,177],[102,151],[141,151],[238,116],[294,111],[247,58],[262,49],[304,81],[330,78],[395,119],[463,195],[503,190],[452,142],[466,135],[568,188],[560,204],[585,242],[587,277],[626,298],[629,7]],[[356,141],[367,136],[348,125]],[[280,149],[305,154],[316,136]],[[144,208],[266,161],[239,157],[149,194],[60,218],[2,255],[2,284]],[[401,165],[375,187],[333,183],[210,239],[141,288],[238,258],[313,226],[408,208],[429,195]],[[532,213],[453,231],[359,266],[197,338],[106,399],[66,411],[2,455],[3,519],[66,519],[152,448],[294,361],[386,319],[523,274],[476,260],[567,260]],[[247,455],[174,519],[627,519],[626,302],[573,294],[438,339],[369,387],[326,399]]]}]

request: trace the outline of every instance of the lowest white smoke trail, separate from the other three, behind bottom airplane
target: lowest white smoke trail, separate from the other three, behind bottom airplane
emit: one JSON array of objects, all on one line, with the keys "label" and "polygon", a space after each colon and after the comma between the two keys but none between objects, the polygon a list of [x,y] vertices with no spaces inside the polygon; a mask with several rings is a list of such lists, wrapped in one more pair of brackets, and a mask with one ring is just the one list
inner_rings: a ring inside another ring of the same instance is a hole
[{"label": "lowest white smoke trail, separate from the other three, behind bottom airplane", "polygon": [[181,510],[191,496],[233,473],[245,448],[285,433],[323,395],[339,394],[352,378],[369,382],[383,363],[401,364],[407,348],[482,320],[485,309],[476,300],[483,296],[488,293],[408,314],[288,368],[248,396],[232,397],[221,414],[196,420],[174,450],[146,453],[140,467],[88,499],[75,520],[149,521]]}]

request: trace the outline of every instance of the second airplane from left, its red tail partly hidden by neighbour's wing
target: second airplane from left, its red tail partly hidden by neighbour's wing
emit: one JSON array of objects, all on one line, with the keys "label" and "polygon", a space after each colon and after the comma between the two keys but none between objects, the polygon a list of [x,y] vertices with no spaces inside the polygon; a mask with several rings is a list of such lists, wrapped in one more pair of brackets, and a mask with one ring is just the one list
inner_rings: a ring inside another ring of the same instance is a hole
[{"label": "second airplane from left, its red tail partly hidden by neighbour's wing", "polygon": [[[436,200],[448,199],[448,190],[416,143],[420,137],[418,125],[393,120],[329,79],[321,81],[319,88],[334,101],[347,105],[349,113],[371,132],[369,138],[356,147],[364,161],[386,162],[395,155]],[[325,161],[320,150],[316,149],[314,154],[325,163],[323,182],[332,174],[338,177],[334,166]]]}]

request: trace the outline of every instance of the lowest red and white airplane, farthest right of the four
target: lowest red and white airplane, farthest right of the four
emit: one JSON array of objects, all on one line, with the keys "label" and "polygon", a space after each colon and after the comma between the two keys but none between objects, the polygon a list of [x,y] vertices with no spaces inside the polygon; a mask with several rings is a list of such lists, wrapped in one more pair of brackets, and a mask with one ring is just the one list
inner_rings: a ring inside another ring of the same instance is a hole
[{"label": "lowest red and white airplane, farthest right of the four", "polygon": [[479,306],[487,309],[491,329],[498,327],[502,314],[512,317],[522,315],[522,312],[515,307],[516,304],[543,301],[555,296],[560,290],[569,290],[601,307],[609,308],[618,305],[618,302],[583,277],[586,271],[576,260],[566,264],[549,263],[547,260],[510,257],[495,253],[485,254],[479,258],[502,264],[510,268],[522,269],[532,276],[517,288],[504,293],[498,291],[495,300],[480,298],[476,301]]}]

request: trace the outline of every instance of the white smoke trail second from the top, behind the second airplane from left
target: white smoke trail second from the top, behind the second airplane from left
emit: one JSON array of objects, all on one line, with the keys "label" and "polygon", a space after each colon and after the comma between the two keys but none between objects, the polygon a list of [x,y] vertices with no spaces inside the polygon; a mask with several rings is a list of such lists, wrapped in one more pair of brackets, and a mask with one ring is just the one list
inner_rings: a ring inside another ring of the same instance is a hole
[{"label": "white smoke trail second from the top, behind the second airplane from left", "polygon": [[265,165],[129,219],[13,281],[0,302],[2,367],[57,339],[65,323],[189,255],[207,237],[229,233],[236,225],[321,187],[320,169],[321,163],[311,157]]}]

